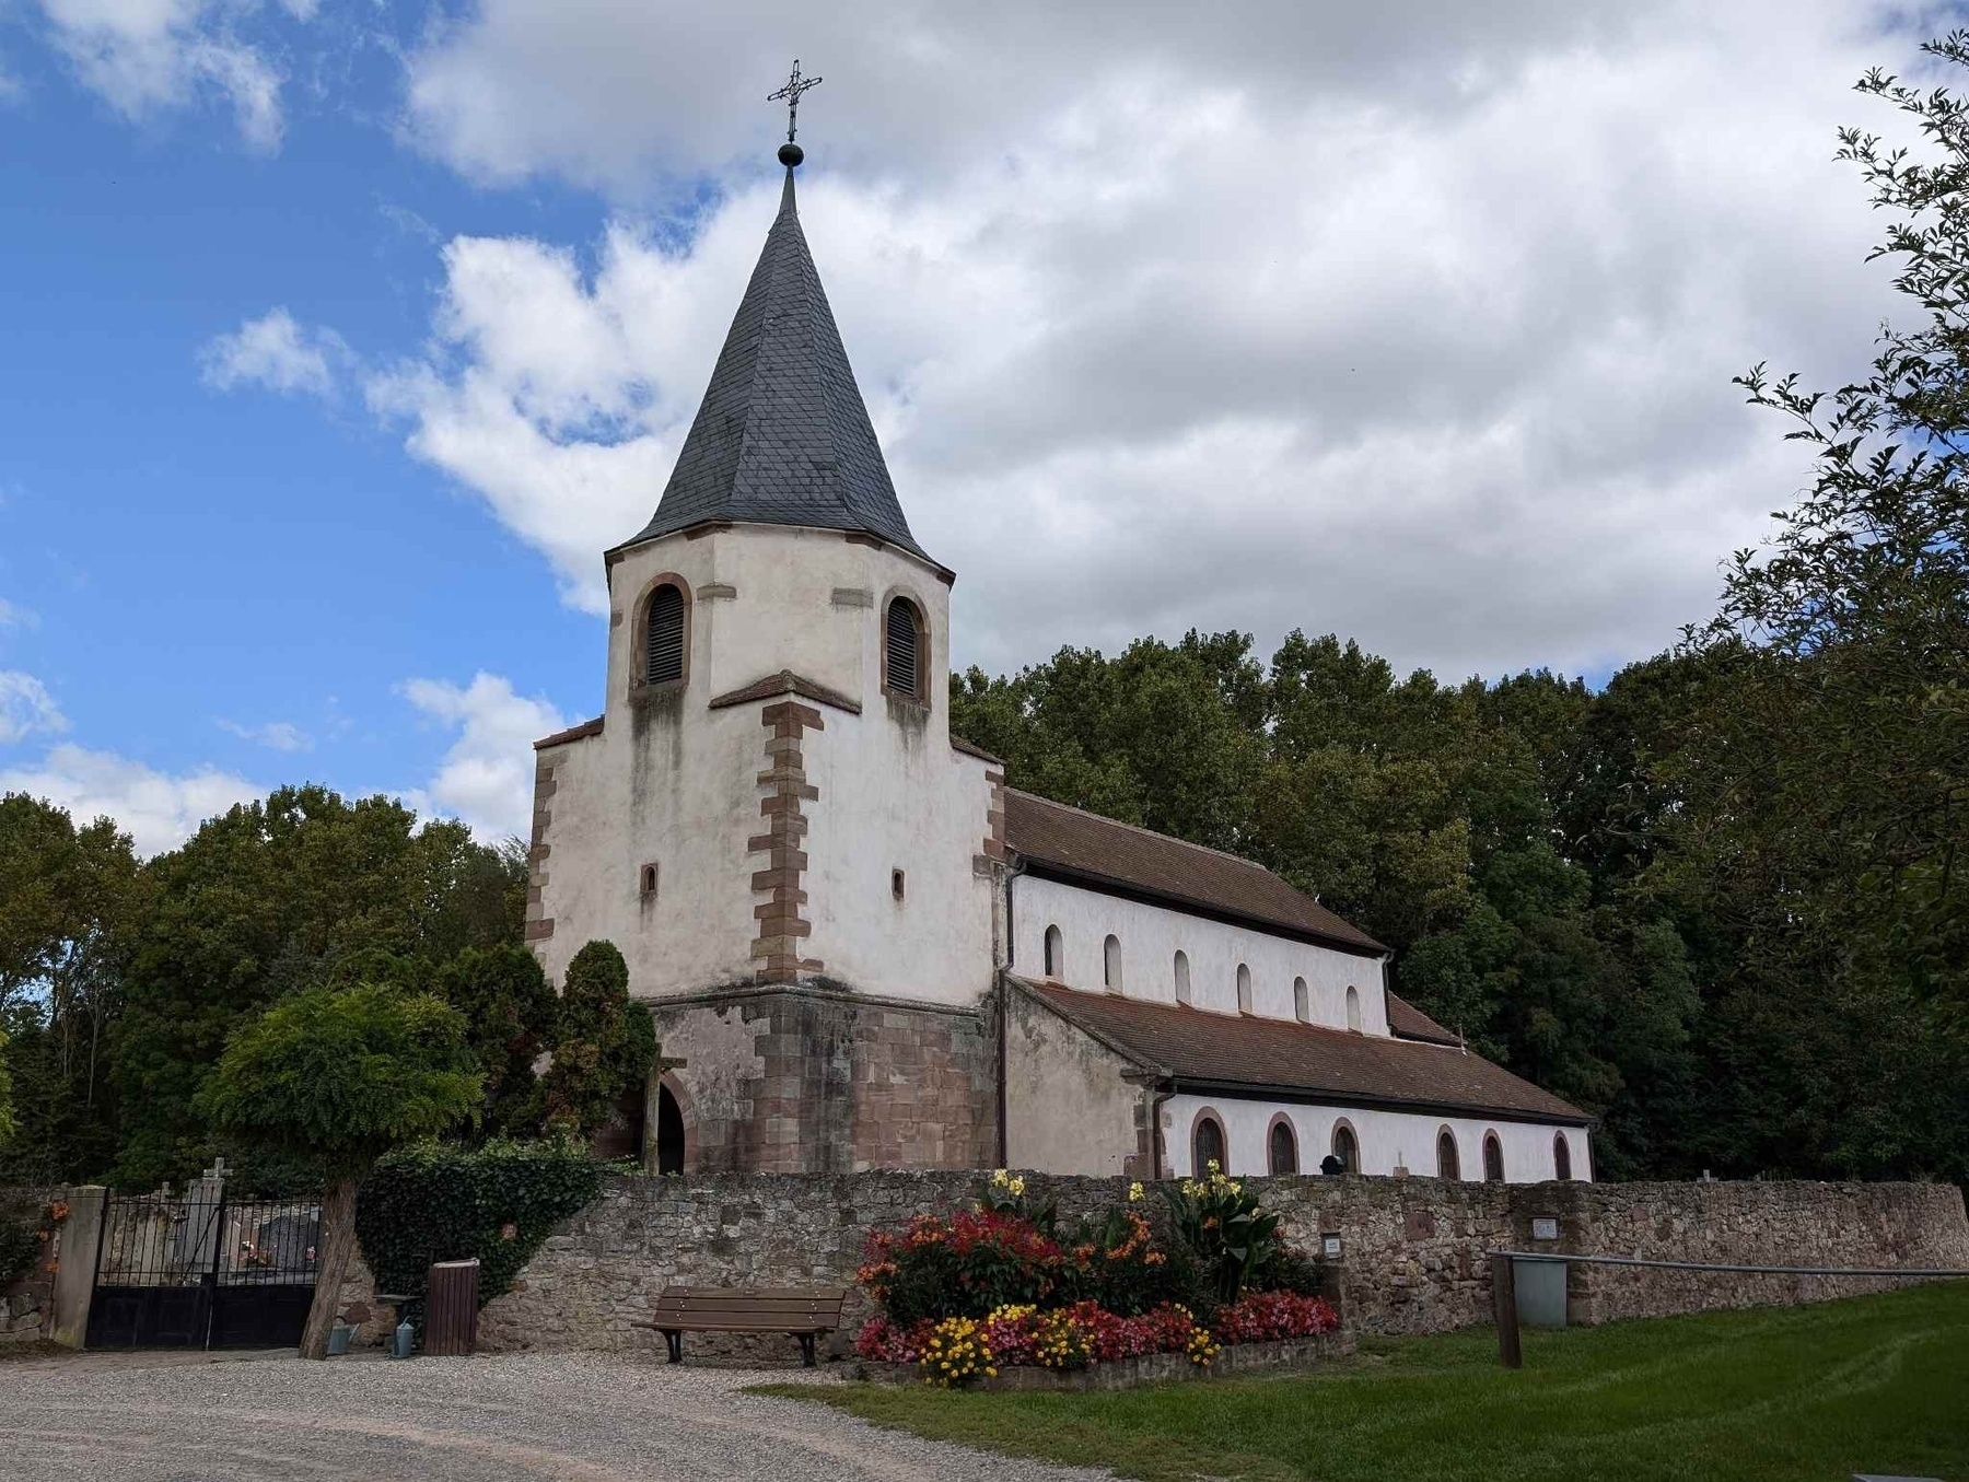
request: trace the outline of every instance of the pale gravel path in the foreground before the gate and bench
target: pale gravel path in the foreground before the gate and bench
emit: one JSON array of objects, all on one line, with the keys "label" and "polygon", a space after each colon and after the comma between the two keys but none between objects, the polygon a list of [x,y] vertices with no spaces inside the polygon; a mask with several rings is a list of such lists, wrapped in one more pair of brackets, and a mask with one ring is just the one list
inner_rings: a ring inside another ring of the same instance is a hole
[{"label": "pale gravel path in the foreground before the gate and bench", "polygon": [[104,1354],[0,1364],[0,1478],[230,1482],[1095,1482],[1107,1472],[876,1431],[746,1395],[821,1370],[669,1368],[606,1354],[197,1362]]}]

